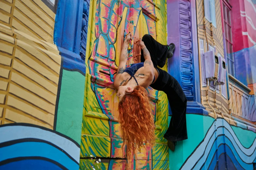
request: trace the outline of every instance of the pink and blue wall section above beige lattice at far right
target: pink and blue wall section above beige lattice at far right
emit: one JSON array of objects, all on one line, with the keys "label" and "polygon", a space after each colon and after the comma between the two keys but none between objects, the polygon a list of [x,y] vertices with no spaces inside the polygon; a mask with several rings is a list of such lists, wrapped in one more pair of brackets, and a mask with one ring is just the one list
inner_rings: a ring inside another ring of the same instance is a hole
[{"label": "pink and blue wall section above beige lattice at far right", "polygon": [[[230,110],[235,117],[256,124],[255,115],[255,52],[256,2],[232,1],[232,36],[234,69],[229,85]],[[241,23],[243,26],[241,26]],[[239,81],[237,81],[235,79]],[[236,83],[234,83],[234,81]],[[238,106],[238,107],[236,107]],[[239,109],[242,107],[242,109]]]}]

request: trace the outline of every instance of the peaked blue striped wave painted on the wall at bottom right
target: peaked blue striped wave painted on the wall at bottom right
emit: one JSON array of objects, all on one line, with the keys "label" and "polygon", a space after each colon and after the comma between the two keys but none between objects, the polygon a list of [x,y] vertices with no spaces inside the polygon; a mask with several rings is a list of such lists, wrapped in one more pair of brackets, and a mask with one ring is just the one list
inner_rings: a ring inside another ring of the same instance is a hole
[{"label": "peaked blue striped wave painted on the wall at bottom right", "polygon": [[[223,130],[224,125],[224,130]],[[226,120],[217,119],[216,120],[216,127],[214,124],[209,128],[207,134],[205,135],[204,140],[199,144],[199,146],[195,149],[193,154],[187,159],[187,161],[182,165],[181,169],[200,169],[201,166],[211,166],[209,165],[212,161],[216,150],[216,142],[215,142],[215,128],[216,136],[223,135],[223,132],[226,136],[225,142],[226,145],[231,148],[233,151],[234,157],[237,158],[237,161],[241,163],[241,166],[247,169],[249,164],[255,161],[256,158],[256,140],[250,146],[250,148],[245,148],[238,140],[237,136],[235,135],[233,129],[231,128],[230,124]],[[217,145],[224,143],[223,136],[217,137]],[[217,155],[219,156],[221,153],[224,152],[224,149],[218,149]],[[213,160],[214,161],[214,160]],[[195,164],[196,163],[196,164]],[[205,164],[205,165],[204,165]]]}]

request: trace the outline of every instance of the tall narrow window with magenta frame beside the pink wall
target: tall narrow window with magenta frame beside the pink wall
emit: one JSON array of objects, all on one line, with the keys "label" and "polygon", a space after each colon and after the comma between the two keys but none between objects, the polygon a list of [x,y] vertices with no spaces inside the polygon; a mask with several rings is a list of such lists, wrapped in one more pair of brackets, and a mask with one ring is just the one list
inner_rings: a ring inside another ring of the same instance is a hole
[{"label": "tall narrow window with magenta frame beside the pink wall", "polygon": [[232,11],[230,0],[223,0],[223,20],[224,20],[224,31],[226,39],[226,50],[227,50],[227,64],[229,74],[235,77],[235,63],[233,55],[233,41],[232,41]]}]

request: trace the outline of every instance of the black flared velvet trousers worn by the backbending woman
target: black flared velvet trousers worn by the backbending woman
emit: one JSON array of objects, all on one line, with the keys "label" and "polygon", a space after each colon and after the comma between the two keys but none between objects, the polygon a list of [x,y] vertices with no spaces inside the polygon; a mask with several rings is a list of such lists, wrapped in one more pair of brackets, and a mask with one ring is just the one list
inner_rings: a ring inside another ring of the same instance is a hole
[{"label": "black flared velvet trousers worn by the backbending woman", "polygon": [[[170,125],[163,137],[171,141],[187,139],[187,98],[179,85],[179,82],[166,71],[157,67],[164,66],[167,58],[168,48],[166,45],[162,45],[157,42],[151,35],[148,34],[143,36],[142,41],[150,53],[154,67],[159,71],[159,76],[156,82],[151,84],[150,87],[166,93],[172,110]],[[143,50],[141,53],[141,61],[144,62],[145,58],[143,56]]]}]

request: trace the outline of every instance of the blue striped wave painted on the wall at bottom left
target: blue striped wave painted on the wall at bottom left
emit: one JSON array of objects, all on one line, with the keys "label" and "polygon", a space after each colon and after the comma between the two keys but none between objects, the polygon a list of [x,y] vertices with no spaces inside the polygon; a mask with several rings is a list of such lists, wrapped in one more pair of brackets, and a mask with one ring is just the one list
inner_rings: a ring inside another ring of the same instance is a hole
[{"label": "blue striped wave painted on the wall at bottom left", "polygon": [[80,146],[56,131],[12,123],[0,135],[0,169],[78,169]]}]

